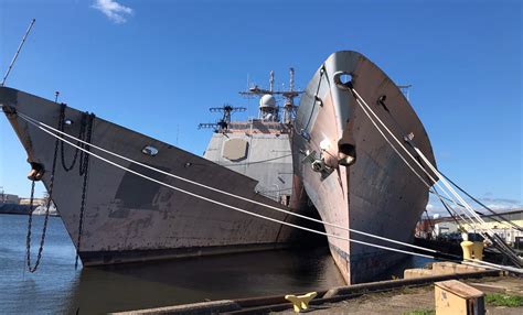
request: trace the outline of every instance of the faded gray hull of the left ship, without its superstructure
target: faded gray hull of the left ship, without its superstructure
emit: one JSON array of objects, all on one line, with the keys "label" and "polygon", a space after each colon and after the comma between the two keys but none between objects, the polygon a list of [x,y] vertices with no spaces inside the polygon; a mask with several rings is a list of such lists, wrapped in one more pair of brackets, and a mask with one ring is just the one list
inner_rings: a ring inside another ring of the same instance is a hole
[{"label": "faded gray hull of the left ship, without its superstructure", "polygon": [[[4,87],[0,88],[0,104],[4,111],[10,112],[7,117],[28,153],[28,162],[44,167],[42,181],[50,191],[55,138],[26,123],[18,112],[56,128],[61,106]],[[83,115],[66,107],[65,119],[73,123],[65,126],[64,131],[77,137]],[[253,178],[109,121],[94,119],[92,143],[164,172],[292,210],[257,194],[257,182]],[[158,154],[145,154],[142,150],[146,146],[153,146]],[[95,149],[92,151],[135,172],[205,198],[299,224],[293,217],[274,209],[159,174]],[[78,162],[67,172],[61,164],[60,153],[58,149],[52,198],[77,247],[84,182],[78,174]],[[75,149],[65,145],[66,165],[72,163],[74,155]],[[287,247],[301,236],[290,227],[173,191],[95,158],[89,160],[85,192],[82,238],[77,248],[84,265],[267,250]]]}]

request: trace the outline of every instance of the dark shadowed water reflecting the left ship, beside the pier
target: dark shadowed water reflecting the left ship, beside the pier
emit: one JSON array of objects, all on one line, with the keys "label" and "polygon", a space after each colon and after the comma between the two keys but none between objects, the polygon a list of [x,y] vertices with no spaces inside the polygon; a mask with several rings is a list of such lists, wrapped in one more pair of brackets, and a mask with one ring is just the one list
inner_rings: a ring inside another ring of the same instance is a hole
[{"label": "dark shadowed water reflecting the left ship, beside the pier", "polygon": [[84,269],[68,307],[81,314],[342,285],[328,251],[266,251]]}]

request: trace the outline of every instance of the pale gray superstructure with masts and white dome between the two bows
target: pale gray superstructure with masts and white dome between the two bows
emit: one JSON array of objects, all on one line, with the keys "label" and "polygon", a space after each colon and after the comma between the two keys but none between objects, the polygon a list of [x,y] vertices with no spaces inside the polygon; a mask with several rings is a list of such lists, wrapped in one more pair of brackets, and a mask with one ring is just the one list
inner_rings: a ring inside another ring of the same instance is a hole
[{"label": "pale gray superstructure with masts and white dome between the two bows", "polygon": [[[290,144],[296,109],[293,104],[300,91],[293,90],[292,68],[289,90],[274,89],[274,72],[270,72],[269,86],[269,89],[254,86],[241,93],[246,97],[259,98],[258,115],[255,118],[232,121],[232,112],[245,111],[246,108],[228,104],[210,109],[212,112],[223,112],[223,117],[216,123],[199,126],[213,128],[215,131],[203,156],[256,180],[258,194],[290,206],[291,196],[300,193],[293,192],[293,187],[301,187],[293,180]],[[281,99],[284,106],[278,106],[277,98]]]}]

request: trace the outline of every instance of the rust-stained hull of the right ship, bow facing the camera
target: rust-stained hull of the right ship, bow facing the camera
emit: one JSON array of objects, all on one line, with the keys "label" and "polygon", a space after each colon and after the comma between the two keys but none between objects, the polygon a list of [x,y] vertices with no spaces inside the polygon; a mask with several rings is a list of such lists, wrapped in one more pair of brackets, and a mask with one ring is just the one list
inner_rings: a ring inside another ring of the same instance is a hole
[{"label": "rust-stained hull of the right ship, bow facing the camera", "polygon": [[[386,143],[353,95],[335,84],[339,73],[352,77],[354,88],[396,137],[403,139],[404,132],[413,132],[418,148],[434,163],[424,127],[397,86],[361,54],[339,52],[318,69],[301,97],[293,150],[302,154],[295,155],[295,171],[324,221],[410,242],[428,200],[428,187]],[[377,102],[382,96],[386,96],[386,110]],[[303,159],[314,151],[328,172],[314,171]],[[355,158],[354,163],[338,164],[340,156],[348,154]],[[325,230],[341,238],[397,248],[330,226]],[[375,280],[405,258],[333,237],[329,237],[329,245],[349,284]]]}]

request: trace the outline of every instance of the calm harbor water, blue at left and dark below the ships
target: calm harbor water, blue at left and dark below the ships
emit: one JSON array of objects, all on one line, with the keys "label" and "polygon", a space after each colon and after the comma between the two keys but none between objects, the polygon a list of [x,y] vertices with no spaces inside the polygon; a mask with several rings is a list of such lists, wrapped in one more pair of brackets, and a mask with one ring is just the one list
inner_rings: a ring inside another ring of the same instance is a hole
[{"label": "calm harbor water, blue at left and dark below the ships", "polygon": [[[26,217],[0,215],[0,313],[99,314],[205,298],[285,294],[343,285],[327,249],[270,251],[74,270],[74,247],[51,218],[42,263],[25,271]],[[34,218],[42,224],[42,217]],[[33,253],[40,226],[33,229]],[[33,256],[34,257],[34,256]]]}]

